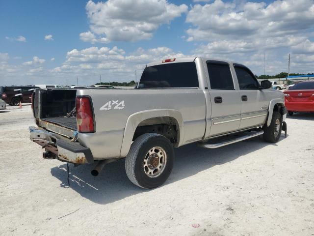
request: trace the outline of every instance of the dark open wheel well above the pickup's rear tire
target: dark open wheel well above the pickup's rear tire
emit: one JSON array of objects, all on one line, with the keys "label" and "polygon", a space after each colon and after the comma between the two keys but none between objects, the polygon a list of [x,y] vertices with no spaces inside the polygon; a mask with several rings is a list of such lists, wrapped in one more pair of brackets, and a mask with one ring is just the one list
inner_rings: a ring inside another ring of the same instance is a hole
[{"label": "dark open wheel well above the pickup's rear tire", "polygon": [[136,127],[132,141],[145,133],[161,134],[174,145],[179,142],[179,124],[172,117],[157,117],[143,120]]}]

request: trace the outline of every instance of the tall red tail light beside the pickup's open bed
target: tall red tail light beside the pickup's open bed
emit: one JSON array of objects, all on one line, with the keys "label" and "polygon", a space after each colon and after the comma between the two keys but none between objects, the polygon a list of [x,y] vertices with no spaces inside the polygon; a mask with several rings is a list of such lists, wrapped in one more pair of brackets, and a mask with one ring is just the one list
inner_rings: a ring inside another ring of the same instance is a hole
[{"label": "tall red tail light beside the pickup's open bed", "polygon": [[78,96],[76,98],[76,112],[78,132],[95,132],[94,112],[90,97]]}]

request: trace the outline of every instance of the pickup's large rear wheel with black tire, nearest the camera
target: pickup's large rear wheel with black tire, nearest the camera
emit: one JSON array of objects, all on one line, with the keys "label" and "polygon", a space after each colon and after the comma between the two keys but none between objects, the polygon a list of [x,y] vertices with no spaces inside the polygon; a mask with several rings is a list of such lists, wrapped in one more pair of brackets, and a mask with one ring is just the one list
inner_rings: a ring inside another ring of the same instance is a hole
[{"label": "pickup's large rear wheel with black tire, nearest the camera", "polygon": [[[163,156],[157,158],[154,156],[155,153],[150,155],[152,150],[153,152],[158,150],[157,148],[152,149],[154,147],[161,148],[159,149],[159,155],[163,155],[165,158]],[[174,156],[174,148],[167,138],[155,133],[143,134],[132,143],[130,151],[126,157],[127,176],[132,183],[141,188],[156,188],[163,184],[169,177],[173,167]],[[149,162],[156,165],[155,160],[157,159],[159,160],[159,162],[157,161],[159,163],[157,164],[157,168],[150,165],[153,169],[156,168],[154,171],[145,166],[148,165]],[[162,160],[164,161],[163,164],[161,163]],[[161,170],[159,171],[158,168]],[[157,176],[150,177],[150,174],[155,175],[155,171],[156,173],[158,172]]]}]

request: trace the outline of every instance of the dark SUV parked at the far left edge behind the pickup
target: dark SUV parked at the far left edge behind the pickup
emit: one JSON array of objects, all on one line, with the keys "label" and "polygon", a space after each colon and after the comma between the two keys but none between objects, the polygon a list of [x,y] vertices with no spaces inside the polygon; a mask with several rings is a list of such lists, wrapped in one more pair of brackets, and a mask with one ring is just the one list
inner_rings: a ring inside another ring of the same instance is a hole
[{"label": "dark SUV parked at the far left edge behind the pickup", "polygon": [[7,104],[18,106],[21,102],[31,102],[33,90],[39,89],[34,86],[3,86],[0,87],[0,98]]}]

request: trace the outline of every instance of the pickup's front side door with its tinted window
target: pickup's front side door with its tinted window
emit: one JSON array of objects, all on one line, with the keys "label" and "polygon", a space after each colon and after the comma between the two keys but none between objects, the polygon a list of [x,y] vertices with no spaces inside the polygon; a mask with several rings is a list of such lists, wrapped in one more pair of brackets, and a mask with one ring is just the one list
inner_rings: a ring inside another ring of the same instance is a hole
[{"label": "pickup's front side door with its tinted window", "polygon": [[241,95],[240,129],[262,125],[268,113],[266,93],[246,66],[234,64],[234,68]]}]

